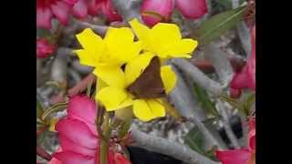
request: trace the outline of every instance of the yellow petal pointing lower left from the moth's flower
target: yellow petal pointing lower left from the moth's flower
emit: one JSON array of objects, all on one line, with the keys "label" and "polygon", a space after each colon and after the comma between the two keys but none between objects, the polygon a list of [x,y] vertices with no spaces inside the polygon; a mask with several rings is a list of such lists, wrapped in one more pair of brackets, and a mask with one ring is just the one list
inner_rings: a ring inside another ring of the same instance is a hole
[{"label": "yellow petal pointing lower left from the moth's flower", "polygon": [[132,99],[128,93],[119,87],[104,87],[96,95],[96,99],[103,104],[107,111],[129,107]]}]

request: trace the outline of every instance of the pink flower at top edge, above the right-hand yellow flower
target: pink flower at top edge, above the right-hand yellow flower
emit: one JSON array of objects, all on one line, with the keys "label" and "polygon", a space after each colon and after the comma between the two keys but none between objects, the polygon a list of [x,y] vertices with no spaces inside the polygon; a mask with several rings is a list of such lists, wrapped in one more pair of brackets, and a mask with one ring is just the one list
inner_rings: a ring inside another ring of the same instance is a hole
[{"label": "pink flower at top edge, above the right-hand yellow flower", "polygon": [[143,0],[142,19],[148,26],[169,20],[177,8],[186,18],[197,19],[207,13],[205,0]]}]

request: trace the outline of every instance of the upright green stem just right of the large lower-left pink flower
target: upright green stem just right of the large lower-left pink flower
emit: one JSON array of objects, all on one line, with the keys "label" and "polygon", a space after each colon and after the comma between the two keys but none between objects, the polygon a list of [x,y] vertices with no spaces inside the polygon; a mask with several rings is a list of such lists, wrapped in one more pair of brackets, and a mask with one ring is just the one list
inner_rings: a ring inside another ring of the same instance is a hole
[{"label": "upright green stem just right of the large lower-left pink flower", "polygon": [[101,140],[101,146],[100,146],[100,164],[107,164],[107,154],[108,154],[108,140],[110,138],[110,115],[108,112],[105,112],[105,118],[104,118],[104,137],[105,139]]}]

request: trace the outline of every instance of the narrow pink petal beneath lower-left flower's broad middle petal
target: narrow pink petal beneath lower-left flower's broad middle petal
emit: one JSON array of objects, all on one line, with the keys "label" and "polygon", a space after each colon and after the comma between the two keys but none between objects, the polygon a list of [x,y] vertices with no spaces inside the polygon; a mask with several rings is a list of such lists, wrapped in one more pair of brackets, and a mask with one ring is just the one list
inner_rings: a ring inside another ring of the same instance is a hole
[{"label": "narrow pink petal beneath lower-left flower's broad middle petal", "polygon": [[95,157],[97,149],[88,149],[78,145],[78,143],[72,142],[70,139],[64,137],[63,135],[58,135],[61,148],[63,151],[73,151],[82,155],[87,155],[90,157]]}]

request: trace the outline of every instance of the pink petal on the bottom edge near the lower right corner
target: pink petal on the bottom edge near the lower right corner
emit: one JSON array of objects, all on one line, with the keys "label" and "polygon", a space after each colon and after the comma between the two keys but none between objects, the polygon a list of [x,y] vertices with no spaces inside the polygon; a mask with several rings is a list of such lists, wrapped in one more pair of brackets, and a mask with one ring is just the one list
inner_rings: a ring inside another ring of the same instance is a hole
[{"label": "pink petal on the bottom edge near the lower right corner", "polygon": [[216,150],[216,157],[222,164],[247,164],[251,158],[251,152],[247,149]]}]

